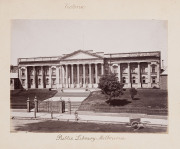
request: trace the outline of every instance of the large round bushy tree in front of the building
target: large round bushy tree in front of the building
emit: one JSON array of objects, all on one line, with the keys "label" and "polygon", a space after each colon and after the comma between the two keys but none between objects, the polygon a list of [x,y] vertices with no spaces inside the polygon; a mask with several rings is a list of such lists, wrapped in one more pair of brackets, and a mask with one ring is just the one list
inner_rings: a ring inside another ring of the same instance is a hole
[{"label": "large round bushy tree in front of the building", "polygon": [[118,81],[116,74],[105,74],[99,79],[99,88],[103,94],[108,95],[109,100],[112,97],[119,97],[123,94],[123,84]]}]

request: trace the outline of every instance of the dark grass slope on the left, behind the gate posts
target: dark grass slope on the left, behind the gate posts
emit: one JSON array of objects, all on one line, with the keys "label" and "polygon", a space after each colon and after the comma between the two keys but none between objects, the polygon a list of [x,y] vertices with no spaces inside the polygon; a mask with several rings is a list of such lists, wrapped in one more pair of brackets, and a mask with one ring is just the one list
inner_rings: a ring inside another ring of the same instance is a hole
[{"label": "dark grass slope on the left, behind the gate posts", "polygon": [[12,90],[10,91],[10,101],[11,105],[26,105],[27,98],[33,101],[36,96],[38,101],[43,101],[54,96],[56,93],[56,90],[49,91],[48,89]]}]

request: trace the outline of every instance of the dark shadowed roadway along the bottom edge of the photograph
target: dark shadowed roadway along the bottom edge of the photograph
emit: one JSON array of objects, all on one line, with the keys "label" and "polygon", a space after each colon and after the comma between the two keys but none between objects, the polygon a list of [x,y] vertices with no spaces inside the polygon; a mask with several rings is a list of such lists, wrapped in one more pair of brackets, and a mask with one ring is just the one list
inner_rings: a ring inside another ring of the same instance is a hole
[{"label": "dark shadowed roadway along the bottom edge of the photograph", "polygon": [[147,127],[134,131],[133,128],[125,124],[96,124],[96,123],[78,123],[63,122],[56,120],[11,120],[11,132],[151,132],[165,133],[166,128]]}]

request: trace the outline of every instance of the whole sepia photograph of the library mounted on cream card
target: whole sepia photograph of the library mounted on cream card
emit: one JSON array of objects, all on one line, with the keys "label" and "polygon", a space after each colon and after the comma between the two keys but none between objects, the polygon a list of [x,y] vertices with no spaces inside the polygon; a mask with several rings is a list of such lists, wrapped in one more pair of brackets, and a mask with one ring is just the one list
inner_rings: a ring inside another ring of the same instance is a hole
[{"label": "whole sepia photograph of the library mounted on cream card", "polygon": [[11,20],[10,132],[168,134],[167,32],[166,20]]}]

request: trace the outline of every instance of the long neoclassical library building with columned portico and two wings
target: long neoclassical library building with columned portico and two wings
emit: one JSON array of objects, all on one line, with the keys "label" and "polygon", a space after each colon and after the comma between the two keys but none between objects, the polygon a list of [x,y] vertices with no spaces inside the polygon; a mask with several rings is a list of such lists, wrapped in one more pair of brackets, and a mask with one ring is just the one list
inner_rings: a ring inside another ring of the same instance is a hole
[{"label": "long neoclassical library building with columned portico and two wings", "polygon": [[18,59],[25,89],[97,88],[104,73],[116,73],[125,88],[159,88],[161,53],[111,53],[78,50],[56,57]]}]

